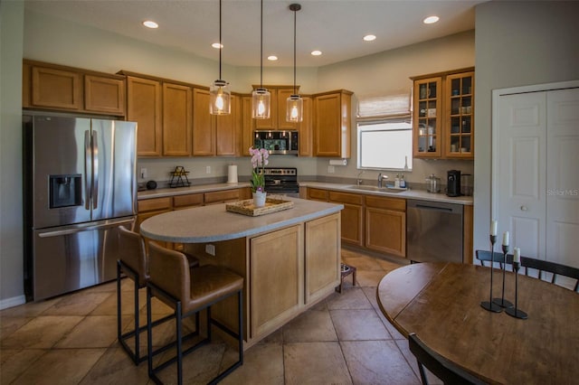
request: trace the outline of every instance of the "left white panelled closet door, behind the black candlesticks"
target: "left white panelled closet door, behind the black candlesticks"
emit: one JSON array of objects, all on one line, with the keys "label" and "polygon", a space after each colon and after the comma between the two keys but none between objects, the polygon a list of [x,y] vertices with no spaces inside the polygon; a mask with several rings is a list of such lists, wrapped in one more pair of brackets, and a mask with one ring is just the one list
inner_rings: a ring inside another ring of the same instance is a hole
[{"label": "left white panelled closet door, behind the black candlesticks", "polygon": [[[496,157],[498,245],[511,234],[510,251],[546,258],[546,92],[500,96]],[[500,247],[498,248],[500,249]]]}]

